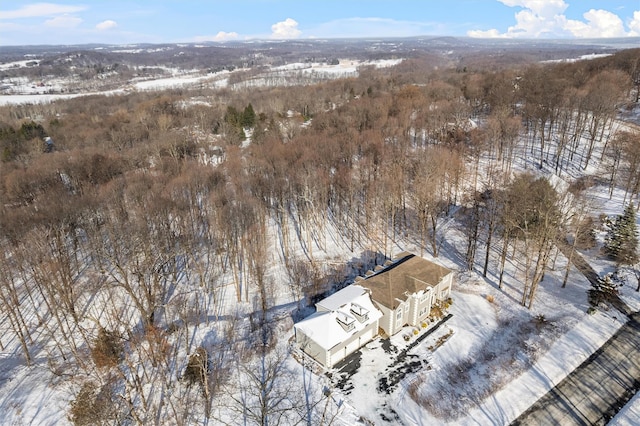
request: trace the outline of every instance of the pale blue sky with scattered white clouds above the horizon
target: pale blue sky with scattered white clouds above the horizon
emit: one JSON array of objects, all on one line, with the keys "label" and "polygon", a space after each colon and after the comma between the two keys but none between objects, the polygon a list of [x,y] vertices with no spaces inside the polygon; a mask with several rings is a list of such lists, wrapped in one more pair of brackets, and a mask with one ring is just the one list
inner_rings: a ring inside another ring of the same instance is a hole
[{"label": "pale blue sky with scattered white clouds above the horizon", "polygon": [[640,0],[0,2],[0,45],[246,39],[640,36]]}]

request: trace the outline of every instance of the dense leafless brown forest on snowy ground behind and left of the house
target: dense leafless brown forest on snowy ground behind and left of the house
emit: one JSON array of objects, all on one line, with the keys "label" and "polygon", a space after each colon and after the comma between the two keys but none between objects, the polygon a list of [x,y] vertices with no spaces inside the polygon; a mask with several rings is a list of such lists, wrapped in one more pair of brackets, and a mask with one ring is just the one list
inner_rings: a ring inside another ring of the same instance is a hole
[{"label": "dense leafless brown forest on snowy ground behind and left of the house", "polygon": [[293,381],[278,295],[303,307],[348,278],[317,252],[437,257],[454,218],[466,269],[501,285],[517,257],[531,308],[557,241],[590,244],[585,189],[640,205],[640,131],[617,120],[639,89],[631,49],[1,107],[0,348],[76,377],[74,424],[330,423],[326,395],[267,392]]}]

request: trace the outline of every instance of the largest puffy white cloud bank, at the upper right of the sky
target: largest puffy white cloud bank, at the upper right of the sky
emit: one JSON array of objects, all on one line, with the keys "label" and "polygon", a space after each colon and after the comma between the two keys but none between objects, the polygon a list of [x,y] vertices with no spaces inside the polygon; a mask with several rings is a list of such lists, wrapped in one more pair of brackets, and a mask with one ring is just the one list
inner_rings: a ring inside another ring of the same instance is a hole
[{"label": "largest puffy white cloud bank, at the upper right of the sky", "polygon": [[468,31],[469,37],[624,37],[640,35],[640,13],[634,13],[625,30],[622,19],[607,10],[591,9],[582,16],[584,20],[567,19],[564,12],[569,5],[564,0],[498,0],[506,6],[521,7],[515,14],[515,25],[502,33],[497,29]]}]

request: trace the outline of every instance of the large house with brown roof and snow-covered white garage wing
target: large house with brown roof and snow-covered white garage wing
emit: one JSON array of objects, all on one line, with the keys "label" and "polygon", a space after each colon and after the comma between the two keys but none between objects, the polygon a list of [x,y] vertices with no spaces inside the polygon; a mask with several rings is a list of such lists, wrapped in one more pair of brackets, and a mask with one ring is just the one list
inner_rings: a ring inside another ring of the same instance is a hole
[{"label": "large house with brown roof and snow-covered white garage wing", "polygon": [[449,269],[403,253],[318,302],[315,314],[295,324],[296,343],[332,367],[380,330],[391,336],[405,325],[419,326],[434,304],[450,296],[452,282]]}]

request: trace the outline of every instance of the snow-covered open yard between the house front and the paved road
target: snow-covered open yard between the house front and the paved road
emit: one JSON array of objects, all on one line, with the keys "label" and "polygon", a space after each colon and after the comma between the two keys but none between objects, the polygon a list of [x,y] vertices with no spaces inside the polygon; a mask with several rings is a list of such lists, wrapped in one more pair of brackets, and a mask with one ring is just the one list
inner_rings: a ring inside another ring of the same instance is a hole
[{"label": "snow-covered open yard between the house front and the paved road", "polygon": [[[476,357],[484,353],[483,346],[487,342],[500,346],[501,336],[508,334],[502,328],[504,326],[501,326],[504,320],[531,320],[531,312],[477,276],[456,286],[450,309],[453,317],[409,352],[416,355],[418,360],[426,361],[428,366],[408,375],[390,395],[377,388],[378,380],[385,374],[390,359],[381,349],[380,340],[370,343],[362,351],[360,371],[352,379],[353,389],[344,396],[352,408],[345,424],[350,424],[358,417],[364,417],[374,424],[384,424],[384,419],[394,419],[394,414],[398,423],[407,425],[507,424],[513,421],[568,372],[580,365],[623,324],[623,318],[617,312],[586,314],[586,290],[589,284],[579,274],[572,278],[570,287],[562,291],[558,288],[560,281],[548,279],[538,295],[540,304],[535,312],[544,314],[553,330],[549,334],[549,341],[538,342],[536,337],[531,337],[530,343],[532,346],[551,345],[548,351],[544,352],[542,348],[537,354],[537,362],[526,370],[525,364],[514,368],[511,373],[506,371],[507,376],[499,380],[505,383],[504,387],[495,389],[497,392],[487,399],[468,404],[466,416],[451,418],[448,417],[450,413],[447,413],[447,417],[436,416],[416,403],[408,391],[413,383],[418,382],[422,383],[420,391],[423,395],[436,393],[431,396],[437,396],[438,392],[430,391],[430,382],[442,380],[441,373],[452,366],[467,366],[467,360],[477,361]],[[636,302],[639,300],[637,294],[628,292],[628,295]],[[490,298],[487,296],[493,296],[493,302],[489,302]],[[573,298],[581,302],[573,303],[569,300]],[[547,300],[549,303],[543,303]],[[446,342],[433,350],[435,342],[449,333],[452,334]],[[402,339],[396,339],[395,344],[398,348],[406,345]],[[505,359],[504,362],[507,361]],[[470,380],[471,388],[478,389],[477,394],[482,394],[482,388],[487,386],[487,376],[480,369],[472,369]],[[464,392],[474,391],[467,388]],[[451,402],[450,398],[455,393],[439,395]]]}]

